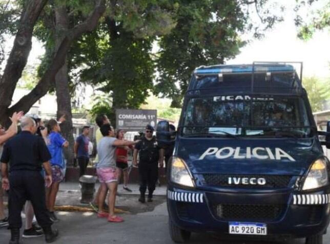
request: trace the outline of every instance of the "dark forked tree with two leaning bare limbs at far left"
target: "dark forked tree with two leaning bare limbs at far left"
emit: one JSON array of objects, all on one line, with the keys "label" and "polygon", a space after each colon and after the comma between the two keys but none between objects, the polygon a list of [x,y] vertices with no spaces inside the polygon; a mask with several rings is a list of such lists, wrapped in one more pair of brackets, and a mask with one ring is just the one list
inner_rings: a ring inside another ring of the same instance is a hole
[{"label": "dark forked tree with two leaning bare limbs at far left", "polygon": [[33,28],[46,2],[47,1],[42,0],[24,2],[14,46],[7,60],[4,74],[0,80],[0,96],[2,97],[0,101],[0,122],[3,124],[8,124],[10,122],[9,115],[14,111],[23,110],[24,112],[28,112],[30,107],[49,91],[50,87],[55,83],[55,76],[58,70],[65,62],[71,43],[82,34],[92,31],[98,24],[99,18],[106,10],[105,0],[97,0],[89,17],[74,28],[68,30],[65,34],[63,41],[60,42],[59,48],[51,60],[51,65],[39,80],[38,84],[28,95],[9,107],[15,86],[22,75],[31,50]]}]

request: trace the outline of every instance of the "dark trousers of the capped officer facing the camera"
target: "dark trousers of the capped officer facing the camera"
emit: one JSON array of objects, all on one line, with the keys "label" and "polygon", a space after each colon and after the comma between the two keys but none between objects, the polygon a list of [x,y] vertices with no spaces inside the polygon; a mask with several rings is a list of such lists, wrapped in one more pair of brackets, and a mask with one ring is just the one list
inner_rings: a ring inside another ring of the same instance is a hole
[{"label": "dark trousers of the capped officer facing the camera", "polygon": [[148,197],[152,197],[152,193],[156,188],[158,180],[158,162],[139,163],[140,193],[145,195],[148,187]]}]

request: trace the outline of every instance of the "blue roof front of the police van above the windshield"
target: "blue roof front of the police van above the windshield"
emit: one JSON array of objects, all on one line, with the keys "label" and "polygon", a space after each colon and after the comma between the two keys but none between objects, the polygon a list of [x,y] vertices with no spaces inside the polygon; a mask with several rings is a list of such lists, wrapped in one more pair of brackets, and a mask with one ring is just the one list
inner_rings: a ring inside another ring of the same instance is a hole
[{"label": "blue roof front of the police van above the windshield", "polygon": [[[302,67],[302,66],[301,66]],[[193,72],[188,94],[301,94],[296,69],[285,62],[199,66]],[[192,93],[191,93],[191,92]]]}]

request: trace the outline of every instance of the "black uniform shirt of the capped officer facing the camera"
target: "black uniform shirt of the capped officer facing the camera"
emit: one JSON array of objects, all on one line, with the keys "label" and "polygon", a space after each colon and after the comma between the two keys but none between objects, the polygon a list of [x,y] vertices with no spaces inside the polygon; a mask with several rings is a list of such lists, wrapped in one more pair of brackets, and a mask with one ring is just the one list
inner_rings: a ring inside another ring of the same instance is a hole
[{"label": "black uniform shirt of the capped officer facing the camera", "polygon": [[135,144],[135,149],[139,150],[140,163],[158,162],[160,147],[155,137],[151,140],[143,137],[141,141]]}]

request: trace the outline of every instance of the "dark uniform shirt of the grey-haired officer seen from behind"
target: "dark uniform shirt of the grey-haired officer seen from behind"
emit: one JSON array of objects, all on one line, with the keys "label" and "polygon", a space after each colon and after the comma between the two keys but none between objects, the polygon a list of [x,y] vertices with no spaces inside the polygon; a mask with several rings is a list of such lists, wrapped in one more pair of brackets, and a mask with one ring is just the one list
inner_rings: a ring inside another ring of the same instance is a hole
[{"label": "dark uniform shirt of the grey-haired officer seen from behind", "polygon": [[22,131],[4,145],[0,162],[10,162],[10,172],[15,170],[42,170],[42,163],[51,159],[43,138],[30,131]]}]

